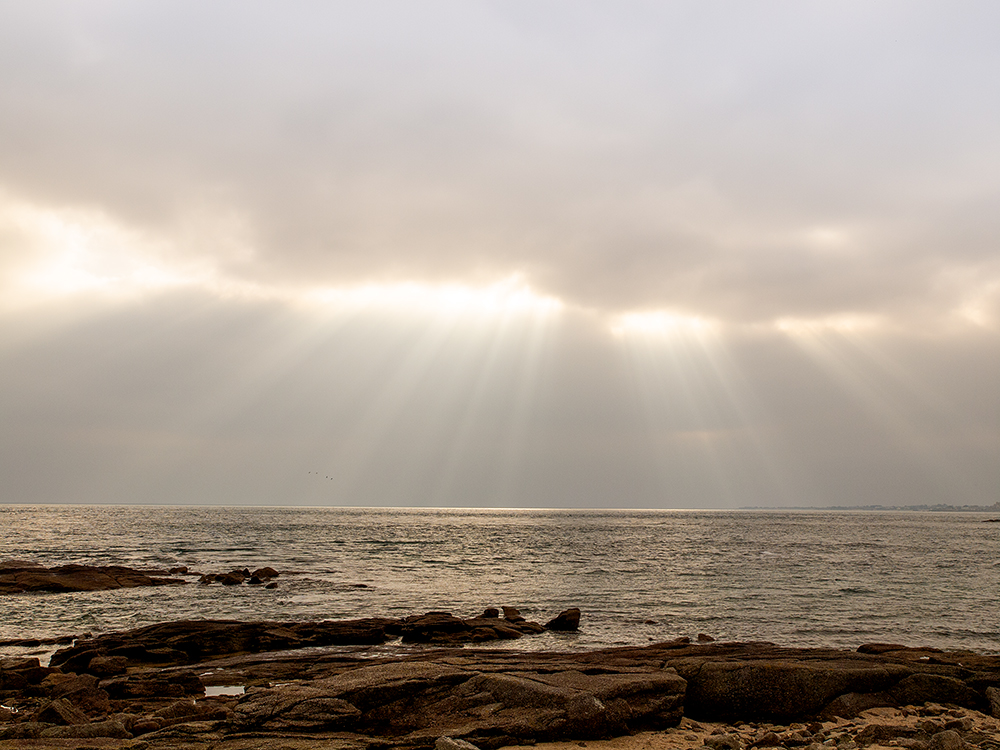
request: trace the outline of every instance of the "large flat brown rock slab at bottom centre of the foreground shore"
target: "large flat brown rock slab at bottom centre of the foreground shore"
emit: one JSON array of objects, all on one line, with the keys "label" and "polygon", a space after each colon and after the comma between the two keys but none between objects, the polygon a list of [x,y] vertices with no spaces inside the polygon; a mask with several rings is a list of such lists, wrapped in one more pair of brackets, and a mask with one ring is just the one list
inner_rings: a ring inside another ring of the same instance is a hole
[{"label": "large flat brown rock slab at bottom centre of the foreground shore", "polygon": [[347,731],[413,747],[446,735],[489,748],[672,726],[681,718],[684,689],[669,669],[499,674],[407,661],[251,688],[236,704],[233,725],[241,732]]}]

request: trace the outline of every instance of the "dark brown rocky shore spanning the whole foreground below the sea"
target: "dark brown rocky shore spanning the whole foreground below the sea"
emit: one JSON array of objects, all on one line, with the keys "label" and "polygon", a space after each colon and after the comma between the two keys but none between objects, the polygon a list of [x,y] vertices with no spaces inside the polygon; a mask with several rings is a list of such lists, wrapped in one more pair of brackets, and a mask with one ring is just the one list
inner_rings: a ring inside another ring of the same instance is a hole
[{"label": "dark brown rocky shore spanning the whole foreground below the sea", "polygon": [[[1000,750],[997,656],[687,639],[587,653],[456,646],[579,617],[186,621],[78,639],[48,666],[0,662],[0,750]],[[372,649],[396,637],[413,645]]]}]

